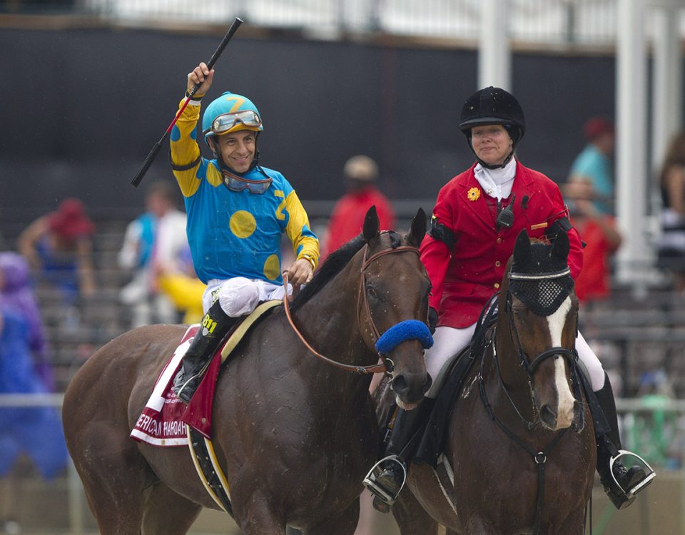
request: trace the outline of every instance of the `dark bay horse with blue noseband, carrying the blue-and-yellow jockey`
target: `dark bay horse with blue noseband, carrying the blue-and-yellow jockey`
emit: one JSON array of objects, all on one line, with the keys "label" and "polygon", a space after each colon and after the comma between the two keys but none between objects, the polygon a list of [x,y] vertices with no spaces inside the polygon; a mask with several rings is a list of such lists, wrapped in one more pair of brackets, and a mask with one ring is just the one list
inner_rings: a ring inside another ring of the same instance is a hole
[{"label": "dark bay horse with blue noseband, carrying the blue-and-yellow jockey", "polygon": [[[417,254],[425,214],[407,235],[378,226],[372,208],[362,235],[334,253],[291,306],[316,351],[355,367],[377,364],[374,332],[427,317],[430,282]],[[68,449],[103,535],[185,534],[203,506],[218,509],[188,448],[129,438],[185,330],[127,332],[67,389]],[[384,357],[398,401],[416,404],[430,386],[421,343],[405,340]],[[377,453],[370,379],[308,352],[282,307],[240,342],[218,378],[213,444],[245,534],[284,534],[286,524],[312,535],[355,531],[362,478]]]}]

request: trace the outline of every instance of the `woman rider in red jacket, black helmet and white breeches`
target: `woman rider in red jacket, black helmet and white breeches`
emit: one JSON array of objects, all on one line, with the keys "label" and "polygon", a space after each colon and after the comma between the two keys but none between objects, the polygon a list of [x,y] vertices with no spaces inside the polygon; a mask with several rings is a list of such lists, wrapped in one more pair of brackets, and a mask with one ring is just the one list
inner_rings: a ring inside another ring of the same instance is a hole
[{"label": "woman rider in red jacket, black helmet and white breeches", "polygon": [[[418,409],[397,409],[383,456],[386,459],[372,469],[365,481],[387,505],[394,501],[387,497],[397,496],[406,477],[407,459],[398,455],[430,411],[451,357],[470,343],[482,307],[499,290],[519,232],[526,229],[531,238],[549,240],[564,230],[570,242],[568,263],[573,278],[583,263],[582,242],[569,223],[559,188],[515,157],[526,131],[524,113],[516,98],[500,88],[477,91],[462,108],[460,129],[476,163],[440,190],[430,230],[421,244],[421,260],[432,282],[429,324],[435,328],[435,345],[426,352],[425,359],[434,380]],[[646,474],[637,466],[626,469],[617,460],[621,440],[612,385],[580,333],[575,347],[611,427],[597,437],[597,471],[609,498],[622,509],[654,478],[654,472]],[[422,410],[422,405],[426,409]],[[380,487],[380,491],[374,487]]]}]

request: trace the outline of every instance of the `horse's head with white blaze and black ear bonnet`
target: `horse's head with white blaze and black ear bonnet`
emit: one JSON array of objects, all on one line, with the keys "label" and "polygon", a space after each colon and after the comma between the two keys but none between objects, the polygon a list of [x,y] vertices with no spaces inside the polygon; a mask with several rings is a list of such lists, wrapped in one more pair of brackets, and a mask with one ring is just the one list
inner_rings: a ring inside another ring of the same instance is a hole
[{"label": "horse's head with white blaze and black ear bonnet", "polygon": [[[569,383],[575,365],[578,299],[568,266],[569,238],[530,243],[522,230],[502,283],[500,320],[529,375],[534,409],[548,429],[569,427],[579,408]],[[507,337],[508,340],[508,337]],[[582,422],[580,422],[582,425]]]}]

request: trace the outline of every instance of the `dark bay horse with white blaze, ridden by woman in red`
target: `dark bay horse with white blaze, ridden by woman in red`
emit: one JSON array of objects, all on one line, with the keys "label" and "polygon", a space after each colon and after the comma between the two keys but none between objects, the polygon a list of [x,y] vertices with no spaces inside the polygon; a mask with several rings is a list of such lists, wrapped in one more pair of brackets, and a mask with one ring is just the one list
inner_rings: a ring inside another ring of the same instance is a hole
[{"label": "dark bay horse with white blaze, ridden by woman in red", "polygon": [[587,404],[569,386],[578,302],[568,253],[563,233],[554,245],[519,235],[492,342],[452,408],[449,464],[412,464],[392,508],[402,535],[436,534],[438,522],[460,535],[584,533],[597,452]]}]

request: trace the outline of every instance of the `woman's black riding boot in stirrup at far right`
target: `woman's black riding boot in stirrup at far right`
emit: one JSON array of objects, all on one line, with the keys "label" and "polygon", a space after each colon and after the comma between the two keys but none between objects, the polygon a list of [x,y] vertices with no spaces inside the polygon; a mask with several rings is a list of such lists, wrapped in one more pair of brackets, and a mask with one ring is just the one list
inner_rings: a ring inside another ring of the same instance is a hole
[{"label": "woman's black riding boot in stirrup at far right", "polygon": [[616,414],[614,392],[607,374],[604,374],[604,387],[594,394],[611,427],[607,434],[597,437],[597,472],[604,486],[604,492],[607,493],[614,506],[617,509],[625,509],[633,503],[636,494],[654,479],[655,474],[654,472],[646,474],[639,466],[626,469],[619,458],[614,461],[612,475],[612,459],[618,457],[619,450],[623,448],[619,437],[619,419]]}]

